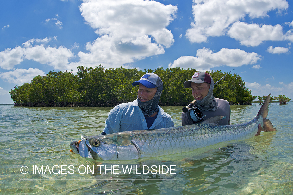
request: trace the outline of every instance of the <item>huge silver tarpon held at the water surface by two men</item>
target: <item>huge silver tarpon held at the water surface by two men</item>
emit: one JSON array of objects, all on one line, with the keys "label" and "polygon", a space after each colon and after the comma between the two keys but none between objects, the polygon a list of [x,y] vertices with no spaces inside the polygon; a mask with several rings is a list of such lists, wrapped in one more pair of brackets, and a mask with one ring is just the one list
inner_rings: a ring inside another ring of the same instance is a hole
[{"label": "huge silver tarpon held at the water surface by two men", "polygon": [[[125,161],[144,157],[165,156],[193,151],[220,142],[249,139],[262,131],[276,131],[268,116],[270,94],[256,117],[236,125],[211,124],[210,118],[201,124],[156,130],[136,130],[100,136],[81,136],[81,141],[70,144],[71,151],[96,160]],[[258,130],[258,124],[262,128]]]}]

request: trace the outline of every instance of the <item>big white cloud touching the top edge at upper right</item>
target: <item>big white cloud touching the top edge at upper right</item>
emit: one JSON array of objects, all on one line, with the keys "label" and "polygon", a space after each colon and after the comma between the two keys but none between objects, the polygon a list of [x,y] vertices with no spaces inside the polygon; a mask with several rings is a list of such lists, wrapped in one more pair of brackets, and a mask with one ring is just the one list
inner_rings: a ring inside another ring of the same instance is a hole
[{"label": "big white cloud touching the top edge at upper right", "polygon": [[268,12],[288,8],[285,0],[193,0],[194,21],[186,31],[190,42],[206,42],[209,36],[222,36],[231,24],[250,18],[267,17]]}]

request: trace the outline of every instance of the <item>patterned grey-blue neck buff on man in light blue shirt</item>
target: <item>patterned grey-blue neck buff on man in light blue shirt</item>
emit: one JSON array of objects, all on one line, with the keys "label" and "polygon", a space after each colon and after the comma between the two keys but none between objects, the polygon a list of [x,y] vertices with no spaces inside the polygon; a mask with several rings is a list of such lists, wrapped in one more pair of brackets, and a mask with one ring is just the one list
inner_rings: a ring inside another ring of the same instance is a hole
[{"label": "patterned grey-blue neck buff on man in light blue shirt", "polygon": [[144,115],[151,116],[155,112],[159,111],[158,103],[163,92],[163,82],[160,77],[158,77],[156,81],[156,86],[158,89],[153,99],[146,102],[141,102],[139,98],[137,98],[138,106],[140,109],[142,109],[142,113]]}]

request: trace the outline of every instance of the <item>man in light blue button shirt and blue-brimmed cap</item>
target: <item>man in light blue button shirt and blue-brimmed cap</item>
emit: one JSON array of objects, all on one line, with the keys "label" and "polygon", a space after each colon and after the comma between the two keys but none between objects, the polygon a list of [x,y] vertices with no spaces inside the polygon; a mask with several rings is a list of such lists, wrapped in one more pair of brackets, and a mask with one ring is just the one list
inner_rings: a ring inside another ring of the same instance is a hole
[{"label": "man in light blue button shirt and blue-brimmed cap", "polygon": [[101,134],[174,127],[172,118],[158,105],[163,91],[161,78],[146,73],[132,85],[139,85],[137,99],[115,106],[109,112]]}]

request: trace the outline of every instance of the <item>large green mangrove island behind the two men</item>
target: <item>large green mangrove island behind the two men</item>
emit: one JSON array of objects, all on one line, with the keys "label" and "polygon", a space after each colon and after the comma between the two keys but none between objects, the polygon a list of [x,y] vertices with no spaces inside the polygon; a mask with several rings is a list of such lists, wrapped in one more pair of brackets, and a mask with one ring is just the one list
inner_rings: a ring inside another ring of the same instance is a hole
[{"label": "large green mangrove island behind the two men", "polygon": [[[191,89],[183,83],[190,80],[195,69],[157,68],[137,70],[125,68],[105,69],[79,66],[76,75],[69,71],[50,71],[45,76],[36,76],[31,83],[16,85],[9,93],[19,106],[70,106],[72,103],[85,106],[115,106],[137,99],[137,81],[147,72],[156,73],[163,81],[161,106],[183,106],[193,101]],[[226,73],[220,70],[210,72],[214,82]],[[214,97],[226,99],[230,104],[247,104],[256,96],[245,88],[245,82],[237,75],[228,74],[214,87]]]}]

